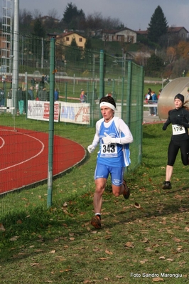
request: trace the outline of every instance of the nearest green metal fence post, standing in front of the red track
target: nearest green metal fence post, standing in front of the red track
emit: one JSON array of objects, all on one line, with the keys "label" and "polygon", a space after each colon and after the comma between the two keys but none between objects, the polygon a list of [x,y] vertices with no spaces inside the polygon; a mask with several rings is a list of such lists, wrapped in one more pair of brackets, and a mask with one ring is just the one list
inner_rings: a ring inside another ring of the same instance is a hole
[{"label": "nearest green metal fence post, standing in front of the red track", "polygon": [[55,93],[55,38],[50,39],[50,114],[48,132],[48,201],[52,206],[53,196],[53,141],[54,141],[54,93]]}]

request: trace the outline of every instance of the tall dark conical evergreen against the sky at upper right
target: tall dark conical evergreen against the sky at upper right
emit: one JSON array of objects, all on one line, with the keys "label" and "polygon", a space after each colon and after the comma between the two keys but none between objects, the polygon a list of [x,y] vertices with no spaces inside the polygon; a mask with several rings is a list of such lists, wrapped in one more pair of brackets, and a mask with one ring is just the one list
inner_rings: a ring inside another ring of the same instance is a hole
[{"label": "tall dark conical evergreen against the sky at upper right", "polygon": [[168,22],[163,14],[161,6],[157,6],[151,21],[148,23],[148,39],[153,42],[158,42],[158,39],[168,31]]}]

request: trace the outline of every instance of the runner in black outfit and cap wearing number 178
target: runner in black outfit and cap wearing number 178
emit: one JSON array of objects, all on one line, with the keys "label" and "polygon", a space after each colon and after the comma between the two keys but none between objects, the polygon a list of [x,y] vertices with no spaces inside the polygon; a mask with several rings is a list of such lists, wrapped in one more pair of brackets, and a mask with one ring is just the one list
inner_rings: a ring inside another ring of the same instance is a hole
[{"label": "runner in black outfit and cap wearing number 178", "polygon": [[163,189],[171,189],[171,176],[173,174],[173,165],[178,154],[181,152],[181,159],[185,166],[188,165],[189,153],[189,107],[184,102],[184,96],[181,94],[175,95],[175,109],[168,112],[168,119],[163,125],[163,130],[166,130],[168,125],[172,123],[171,142],[168,146],[168,163],[166,167],[166,181],[163,182]]}]

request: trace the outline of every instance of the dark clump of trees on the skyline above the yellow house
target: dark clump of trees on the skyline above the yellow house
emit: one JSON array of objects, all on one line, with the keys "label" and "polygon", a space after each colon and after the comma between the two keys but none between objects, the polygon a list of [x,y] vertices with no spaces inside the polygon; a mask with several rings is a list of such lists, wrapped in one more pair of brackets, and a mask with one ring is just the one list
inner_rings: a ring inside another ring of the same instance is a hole
[{"label": "dark clump of trees on the skyline above the yellow house", "polygon": [[[41,26],[45,29],[45,33],[62,33],[64,30],[82,31],[86,36],[90,34],[90,31],[97,31],[100,29],[120,29],[124,28],[124,24],[119,19],[112,19],[110,17],[104,18],[101,13],[95,12],[85,16],[82,9],[77,9],[72,2],[68,3],[63,11],[63,18],[60,21],[58,19],[57,11],[52,9],[48,11],[41,25],[39,21],[42,19],[41,12],[38,9],[34,9],[33,12],[26,9],[19,12],[19,25],[20,31],[24,33],[33,33],[38,35],[41,33]],[[38,22],[36,22],[38,20]],[[40,27],[40,31],[36,31],[36,26]],[[34,31],[35,29],[35,31]]]}]

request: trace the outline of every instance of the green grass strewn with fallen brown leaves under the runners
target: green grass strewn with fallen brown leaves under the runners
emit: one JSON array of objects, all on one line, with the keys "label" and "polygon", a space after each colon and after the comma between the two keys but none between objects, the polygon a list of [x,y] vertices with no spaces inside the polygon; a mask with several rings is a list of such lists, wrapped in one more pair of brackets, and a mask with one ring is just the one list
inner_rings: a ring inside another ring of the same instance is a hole
[{"label": "green grass strewn with fallen brown leaves under the runners", "polygon": [[161,127],[143,126],[143,162],[126,177],[129,200],[112,196],[108,181],[101,230],[90,225],[96,154],[55,180],[50,209],[46,185],[5,196],[12,209],[0,221],[1,284],[188,283],[188,167],[178,154],[173,189],[161,189],[171,136]]}]

